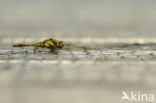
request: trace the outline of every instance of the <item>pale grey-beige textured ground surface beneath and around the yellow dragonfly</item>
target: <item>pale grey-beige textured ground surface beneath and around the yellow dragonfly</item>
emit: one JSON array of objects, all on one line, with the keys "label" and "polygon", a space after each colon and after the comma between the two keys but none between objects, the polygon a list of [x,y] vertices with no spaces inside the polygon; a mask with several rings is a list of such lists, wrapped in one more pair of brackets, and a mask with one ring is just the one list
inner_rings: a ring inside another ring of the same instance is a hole
[{"label": "pale grey-beige textured ground surface beneath and around the yellow dragonfly", "polygon": [[156,93],[154,39],[58,39],[65,47],[54,55],[46,49],[33,54],[32,47],[13,48],[15,41],[1,38],[1,102],[120,103],[123,90]]}]

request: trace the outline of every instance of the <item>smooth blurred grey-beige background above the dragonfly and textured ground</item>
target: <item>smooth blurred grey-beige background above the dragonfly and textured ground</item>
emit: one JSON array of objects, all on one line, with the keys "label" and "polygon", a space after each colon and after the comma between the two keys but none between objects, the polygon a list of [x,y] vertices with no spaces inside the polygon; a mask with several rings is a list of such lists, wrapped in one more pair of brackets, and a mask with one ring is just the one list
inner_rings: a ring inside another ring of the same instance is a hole
[{"label": "smooth blurred grey-beige background above the dragonfly and textured ground", "polygon": [[155,37],[155,18],[155,0],[0,0],[2,37]]}]

